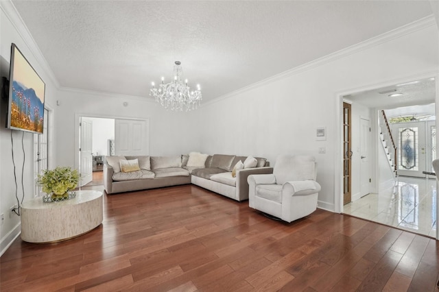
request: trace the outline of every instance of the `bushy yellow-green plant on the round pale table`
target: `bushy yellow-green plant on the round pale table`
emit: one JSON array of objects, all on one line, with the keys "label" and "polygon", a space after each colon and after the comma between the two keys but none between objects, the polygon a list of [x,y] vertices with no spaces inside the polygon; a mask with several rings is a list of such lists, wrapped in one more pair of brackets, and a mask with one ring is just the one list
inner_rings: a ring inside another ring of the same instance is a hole
[{"label": "bushy yellow-green plant on the round pale table", "polygon": [[47,194],[63,195],[73,190],[80,180],[80,174],[71,167],[56,167],[46,169],[38,175],[38,185],[43,186],[43,192]]}]

